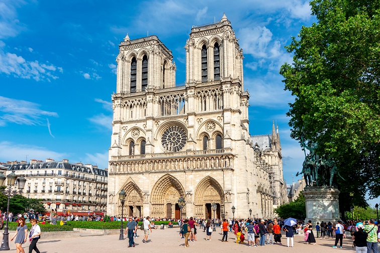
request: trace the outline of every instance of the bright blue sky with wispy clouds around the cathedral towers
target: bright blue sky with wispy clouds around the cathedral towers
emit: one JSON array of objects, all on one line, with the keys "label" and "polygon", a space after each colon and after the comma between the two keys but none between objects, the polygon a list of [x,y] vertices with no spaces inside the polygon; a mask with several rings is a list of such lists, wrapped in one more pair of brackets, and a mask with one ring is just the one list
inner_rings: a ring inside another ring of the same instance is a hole
[{"label": "bright blue sky with wispy clouds around the cathedral towers", "polygon": [[118,44],[156,35],[185,81],[184,45],[193,25],[226,13],[244,53],[250,134],[279,127],[283,172],[291,183],[304,159],[290,138],[292,102],[278,74],[284,46],[315,22],[309,1],[0,0],[0,161],[69,159],[108,166],[111,94]]}]

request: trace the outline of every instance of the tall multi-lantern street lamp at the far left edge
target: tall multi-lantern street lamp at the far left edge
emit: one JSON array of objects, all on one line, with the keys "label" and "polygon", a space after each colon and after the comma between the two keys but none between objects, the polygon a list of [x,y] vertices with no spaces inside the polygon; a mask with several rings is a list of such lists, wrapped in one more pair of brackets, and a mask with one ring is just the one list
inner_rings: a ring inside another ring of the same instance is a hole
[{"label": "tall multi-lantern street lamp at the far left edge", "polygon": [[[0,174],[0,186],[3,185],[5,179],[6,179],[6,177],[3,175],[3,172],[1,172],[1,174]],[[19,188],[18,191],[12,190],[12,186],[15,185],[16,179],[18,181],[18,188]],[[16,194],[18,194],[18,193],[22,194],[23,193],[25,183],[26,183],[25,177],[23,177],[23,176],[17,177],[17,175],[15,174],[15,171],[12,171],[12,173],[7,176],[8,189],[2,190],[3,194],[8,196],[7,213],[6,213],[7,221],[6,221],[6,226],[4,227],[3,241],[2,241],[2,246],[0,247],[0,250],[10,250],[10,248],[9,248],[9,232],[8,232],[8,228],[9,228],[8,227],[9,201],[11,200],[11,197],[15,196]]]}]

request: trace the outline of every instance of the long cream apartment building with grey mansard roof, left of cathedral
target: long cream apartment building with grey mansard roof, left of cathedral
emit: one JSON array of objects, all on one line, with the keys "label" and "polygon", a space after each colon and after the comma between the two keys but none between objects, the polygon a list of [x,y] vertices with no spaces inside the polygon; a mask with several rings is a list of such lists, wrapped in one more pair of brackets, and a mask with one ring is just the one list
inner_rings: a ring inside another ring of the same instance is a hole
[{"label": "long cream apartment building with grey mansard roof, left of cathedral", "polygon": [[[45,162],[30,160],[8,162],[8,176],[12,171],[25,176],[23,191],[26,198],[42,199],[47,211],[88,212],[102,215],[106,212],[108,171],[97,166],[81,163],[71,164],[68,160]],[[16,186],[15,186],[16,187]]]}]

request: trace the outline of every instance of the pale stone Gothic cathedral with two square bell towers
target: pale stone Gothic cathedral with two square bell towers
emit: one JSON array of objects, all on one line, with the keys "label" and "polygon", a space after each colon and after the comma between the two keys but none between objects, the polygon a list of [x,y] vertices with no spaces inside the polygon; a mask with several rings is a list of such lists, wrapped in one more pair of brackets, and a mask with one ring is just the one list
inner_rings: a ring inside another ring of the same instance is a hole
[{"label": "pale stone Gothic cathedral with two square bell towers", "polygon": [[[109,150],[109,215],[272,218],[287,201],[278,130],[250,136],[243,52],[224,15],[193,27],[186,82],[156,37],[121,42]],[[185,199],[182,211],[178,199]],[[235,213],[232,213],[232,207]]]}]

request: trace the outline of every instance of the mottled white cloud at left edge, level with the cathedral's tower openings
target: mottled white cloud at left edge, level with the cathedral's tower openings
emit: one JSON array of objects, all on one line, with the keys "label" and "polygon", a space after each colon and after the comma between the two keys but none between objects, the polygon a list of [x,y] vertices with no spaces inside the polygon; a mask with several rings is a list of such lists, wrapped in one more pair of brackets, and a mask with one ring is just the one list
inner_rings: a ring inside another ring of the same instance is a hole
[{"label": "mottled white cloud at left edge, level with the cathedral's tower openings", "polygon": [[49,77],[58,78],[58,76],[54,75],[55,70],[56,67],[52,64],[27,61],[22,56],[6,52],[0,47],[0,73],[24,79],[33,78],[36,81],[50,81]]}]

